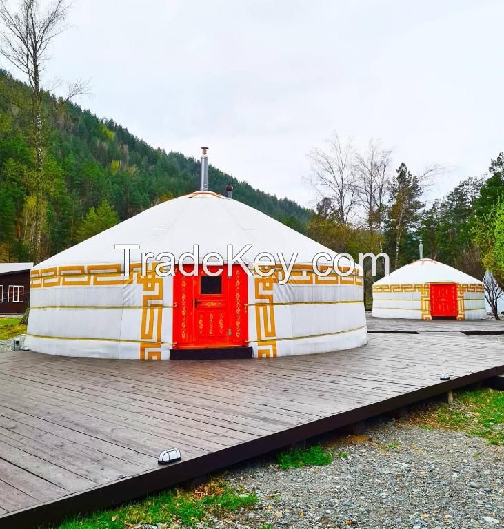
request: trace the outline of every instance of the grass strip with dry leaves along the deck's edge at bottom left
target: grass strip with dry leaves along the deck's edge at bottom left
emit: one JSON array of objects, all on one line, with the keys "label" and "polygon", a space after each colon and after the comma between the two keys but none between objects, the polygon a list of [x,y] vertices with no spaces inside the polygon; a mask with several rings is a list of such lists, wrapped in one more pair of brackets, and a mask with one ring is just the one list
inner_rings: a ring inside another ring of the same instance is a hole
[{"label": "grass strip with dry leaves along the deck's edge at bottom left", "polygon": [[194,526],[210,513],[222,515],[242,507],[250,508],[256,501],[255,494],[242,493],[217,480],[190,492],[170,489],[116,509],[69,519],[58,529],[124,529],[140,523],[174,522]]}]

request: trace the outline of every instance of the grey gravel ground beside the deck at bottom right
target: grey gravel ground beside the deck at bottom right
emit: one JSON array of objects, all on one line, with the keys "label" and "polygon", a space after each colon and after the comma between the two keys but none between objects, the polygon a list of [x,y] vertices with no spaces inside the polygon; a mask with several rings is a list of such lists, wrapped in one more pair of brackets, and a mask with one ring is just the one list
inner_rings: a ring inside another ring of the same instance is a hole
[{"label": "grey gravel ground beside the deck at bottom right", "polygon": [[387,422],[342,438],[330,466],[280,470],[257,461],[233,486],[259,507],[201,527],[450,528],[504,526],[504,448],[463,433]]}]

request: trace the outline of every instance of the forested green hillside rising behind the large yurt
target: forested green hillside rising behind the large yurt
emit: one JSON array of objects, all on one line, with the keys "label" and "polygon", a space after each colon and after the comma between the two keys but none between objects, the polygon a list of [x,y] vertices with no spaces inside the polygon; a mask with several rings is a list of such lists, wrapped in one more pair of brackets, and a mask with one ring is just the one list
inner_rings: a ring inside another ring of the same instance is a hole
[{"label": "forested green hillside rising behind the large yurt", "polygon": [[[154,149],[125,127],[43,94],[41,258],[199,187],[199,161]],[[30,260],[35,154],[30,88],[0,70],[0,261]],[[195,146],[196,148],[199,146]],[[209,169],[209,188],[304,231],[310,211]]]}]

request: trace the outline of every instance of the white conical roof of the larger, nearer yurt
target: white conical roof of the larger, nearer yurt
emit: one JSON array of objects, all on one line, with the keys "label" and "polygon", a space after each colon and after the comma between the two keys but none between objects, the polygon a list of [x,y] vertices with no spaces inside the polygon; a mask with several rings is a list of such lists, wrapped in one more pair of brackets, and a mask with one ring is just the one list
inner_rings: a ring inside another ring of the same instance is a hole
[{"label": "white conical roof of the larger, nearer yurt", "polygon": [[[142,252],[170,252],[178,262],[181,253],[192,252],[193,245],[199,245],[200,262],[210,252],[219,253],[225,260],[228,245],[237,253],[248,244],[252,248],[243,258],[248,264],[261,252],[274,256],[281,252],[287,262],[298,253],[296,263],[301,264],[311,263],[321,251],[336,256],[334,251],[238,200],[196,191],[146,209],[34,268],[123,262],[123,251],[114,249],[115,244],[140,245],[139,250],[130,253],[132,262],[139,262]],[[345,260],[342,258],[339,264],[344,265]]]}]

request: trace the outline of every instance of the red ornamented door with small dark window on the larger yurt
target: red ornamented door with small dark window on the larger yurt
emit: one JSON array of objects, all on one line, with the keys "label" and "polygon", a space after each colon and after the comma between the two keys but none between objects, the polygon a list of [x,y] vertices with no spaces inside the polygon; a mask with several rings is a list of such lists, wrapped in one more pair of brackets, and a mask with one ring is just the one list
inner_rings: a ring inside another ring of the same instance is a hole
[{"label": "red ornamented door with small dark window on the larger yurt", "polygon": [[[208,267],[214,271],[213,267]],[[173,341],[175,349],[248,345],[247,275],[239,265],[208,276],[174,276]]]}]

